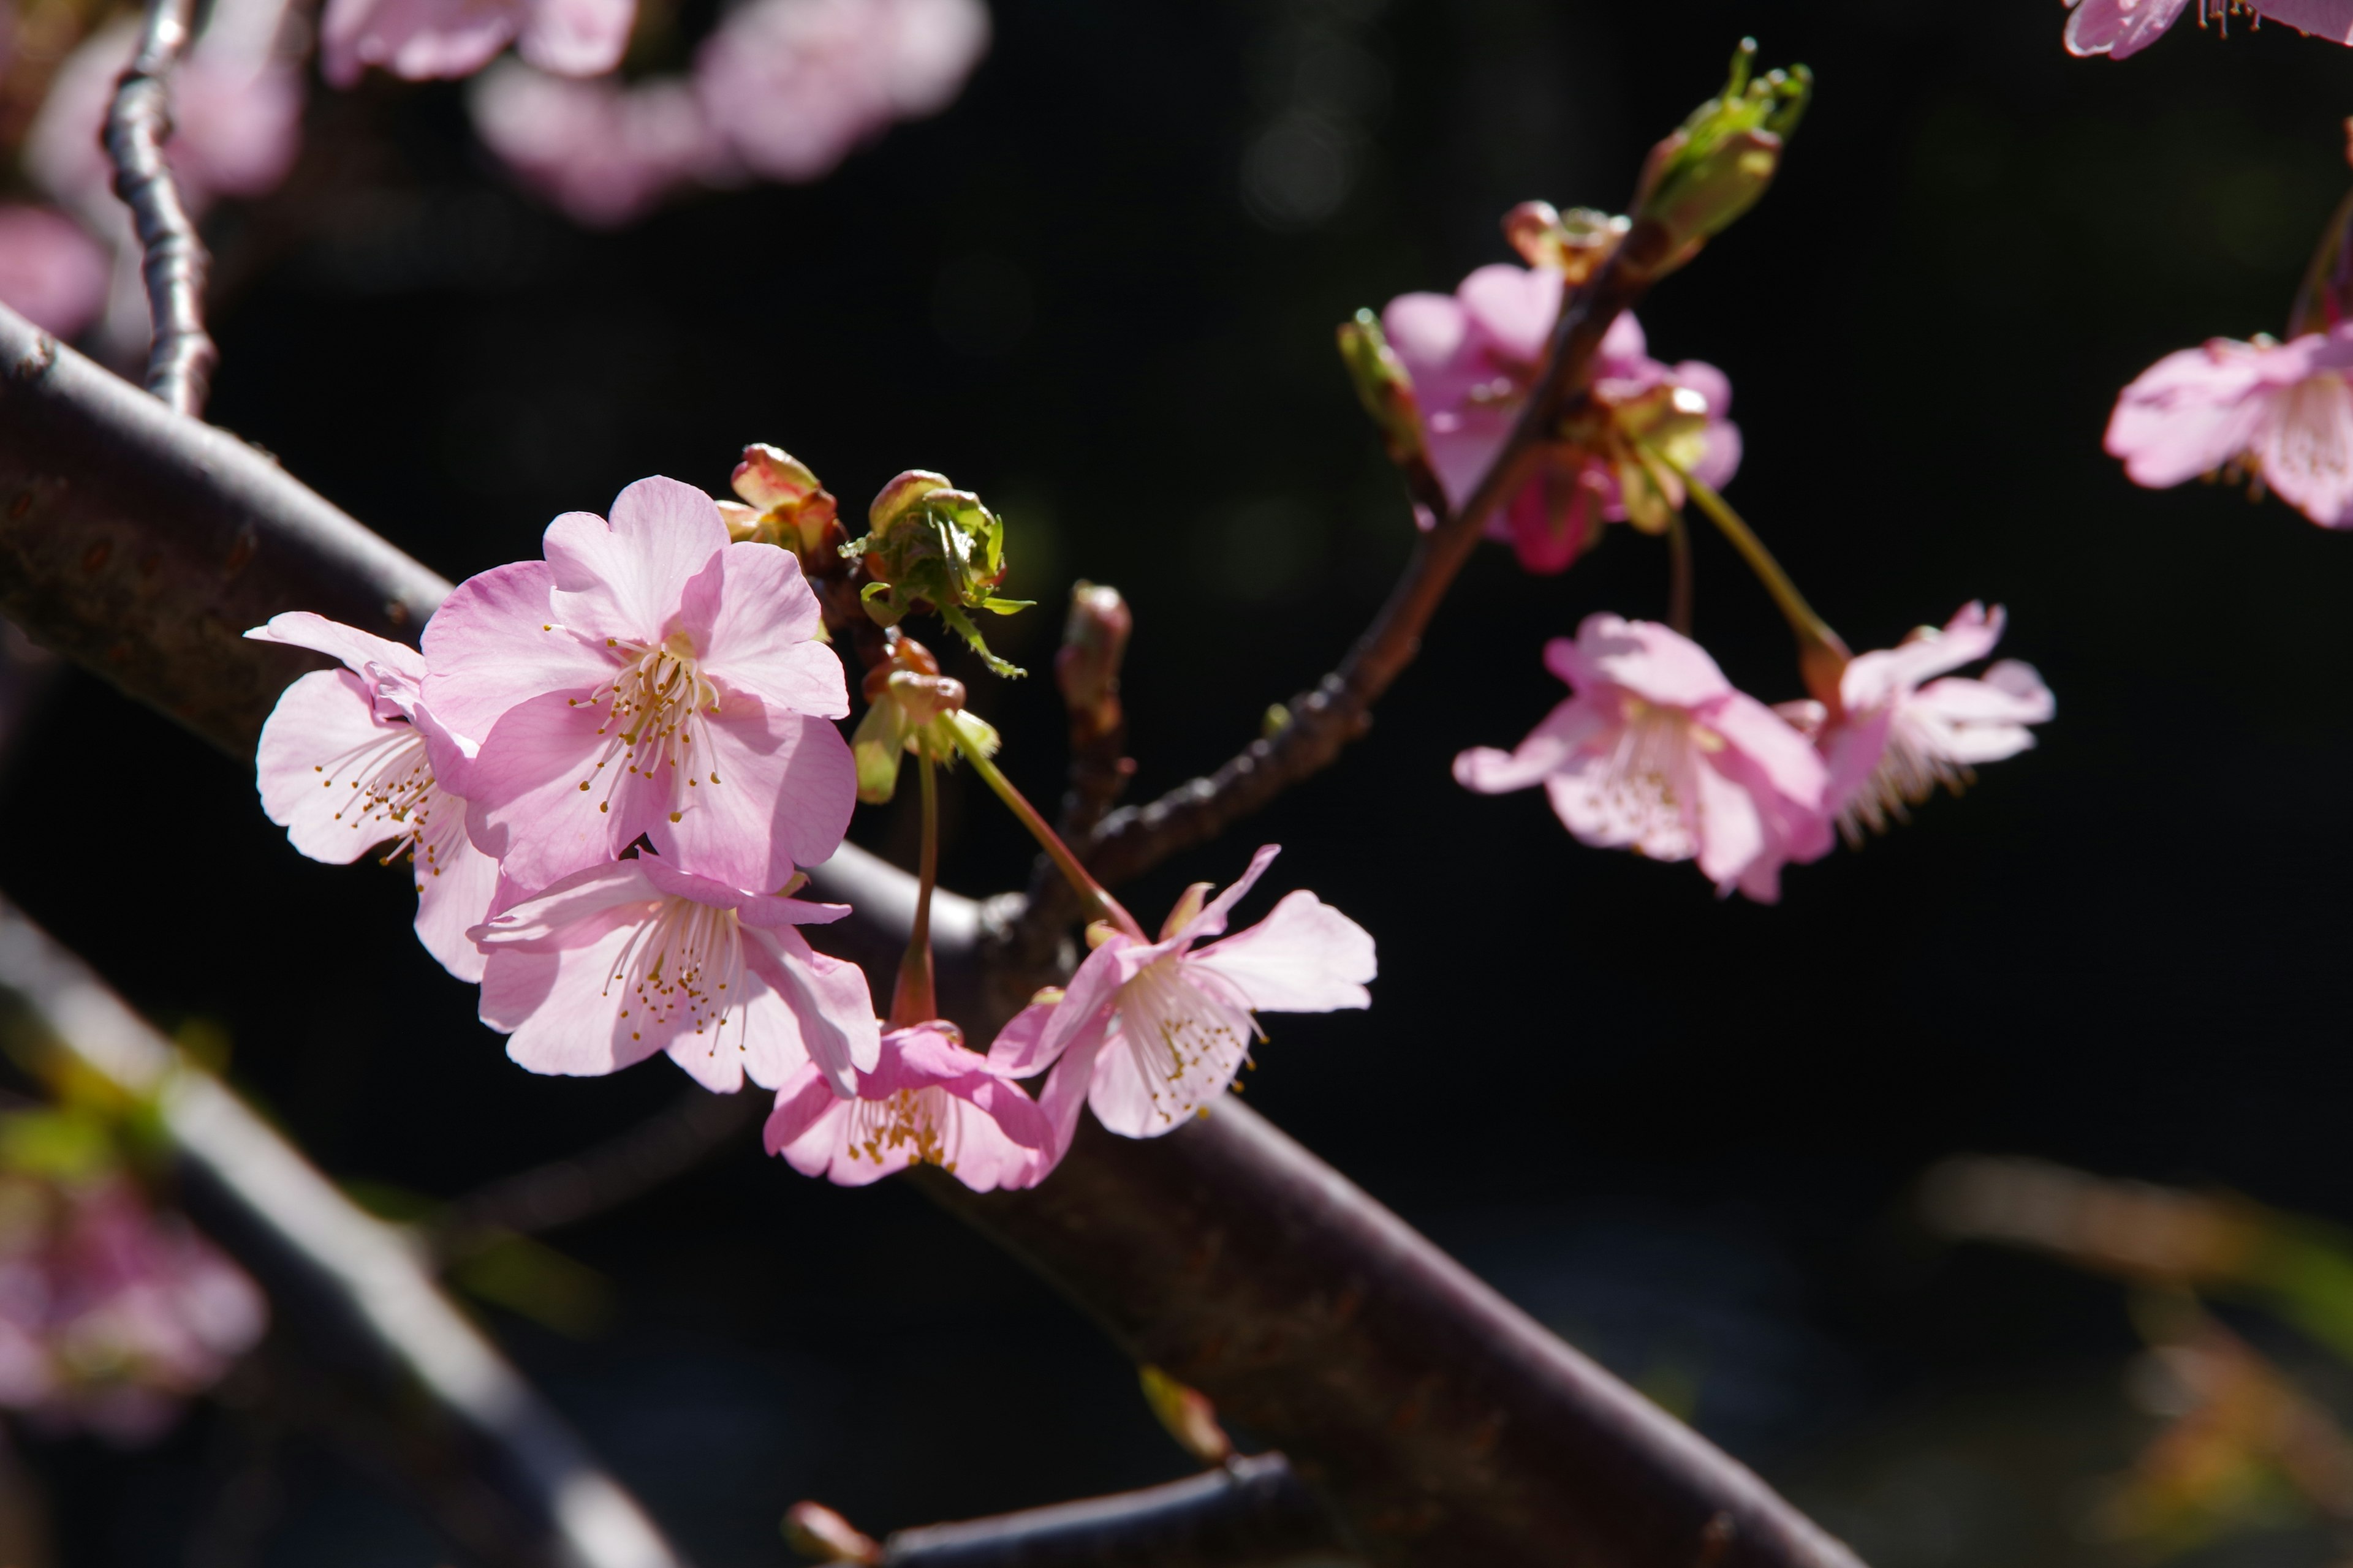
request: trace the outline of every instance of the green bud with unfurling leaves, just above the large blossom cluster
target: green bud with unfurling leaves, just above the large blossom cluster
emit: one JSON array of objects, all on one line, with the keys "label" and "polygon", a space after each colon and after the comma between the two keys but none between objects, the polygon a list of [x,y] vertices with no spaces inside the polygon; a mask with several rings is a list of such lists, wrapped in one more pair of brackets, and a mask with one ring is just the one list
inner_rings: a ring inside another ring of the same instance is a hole
[{"label": "green bud with unfurling leaves, just above the large blossom cluster", "polygon": [[965,614],[986,609],[1009,616],[1031,607],[1031,599],[995,592],[1005,581],[1005,520],[981,505],[979,496],[951,487],[946,475],[913,468],[882,487],[866,512],[866,538],[840,552],[866,562],[871,581],[861,599],[878,625],[899,625],[918,609],[929,609],[991,670],[1021,675],[988,651],[981,630]]}]

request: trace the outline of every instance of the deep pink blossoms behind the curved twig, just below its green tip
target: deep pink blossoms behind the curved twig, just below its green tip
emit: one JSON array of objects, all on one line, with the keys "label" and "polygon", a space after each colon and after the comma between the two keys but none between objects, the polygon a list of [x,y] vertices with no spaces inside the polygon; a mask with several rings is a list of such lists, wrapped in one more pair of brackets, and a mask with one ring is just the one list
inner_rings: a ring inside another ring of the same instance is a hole
[{"label": "deep pink blossoms behind the curved twig, just below its green tip", "polygon": [[[1511,435],[1560,315],[1562,275],[1551,268],[1482,266],[1454,294],[1400,294],[1381,313],[1391,346],[1414,378],[1431,465],[1461,505]],[[1645,520],[1659,489],[1633,442],[1642,440],[1708,484],[1741,463],[1739,425],[1725,418],[1732,383],[1713,364],[1661,364],[1642,327],[1619,315],[1593,367],[1591,404],[1546,447],[1544,465],[1487,520],[1529,571],[1560,571],[1598,536],[1600,522]],[[1668,484],[1673,484],[1668,475]],[[1661,496],[1682,505],[1680,484]]]}]

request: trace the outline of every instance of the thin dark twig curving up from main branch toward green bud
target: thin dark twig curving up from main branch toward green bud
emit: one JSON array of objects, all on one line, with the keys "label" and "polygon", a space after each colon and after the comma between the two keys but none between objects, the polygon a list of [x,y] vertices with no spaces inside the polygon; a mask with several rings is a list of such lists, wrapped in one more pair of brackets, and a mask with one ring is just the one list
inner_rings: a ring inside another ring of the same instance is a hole
[{"label": "thin dark twig curving up from main branch toward green bud", "polygon": [[1405,574],[1339,670],[1289,701],[1289,722],[1280,731],[1252,741],[1207,778],[1193,778],[1146,806],[1125,806],[1104,818],[1089,842],[1078,846],[1087,870],[1106,886],[1139,877],[1179,849],[1217,837],[1235,818],[1259,811],[1282,790],[1320,773],[1344,745],[1365,733],[1372,705],[1421,651],[1421,632],[1478,548],[1487,512],[1513,494],[1537,447],[1551,437],[1562,411],[1586,393],[1593,355],[1609,322],[1649,292],[1654,249],[1657,242],[1635,226],[1617,254],[1562,301],[1544,371],[1504,447],[1464,505],[1442,512],[1414,543]]}]

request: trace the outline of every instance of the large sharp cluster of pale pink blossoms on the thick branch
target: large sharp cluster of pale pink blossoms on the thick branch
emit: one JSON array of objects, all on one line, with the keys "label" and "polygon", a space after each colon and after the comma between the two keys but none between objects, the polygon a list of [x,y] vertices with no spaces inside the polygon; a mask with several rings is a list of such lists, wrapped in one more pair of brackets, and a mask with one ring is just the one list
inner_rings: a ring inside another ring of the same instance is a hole
[{"label": "large sharp cluster of pale pink blossoms on the thick branch", "polygon": [[[461,583],[421,651],[308,614],[249,632],[341,665],[287,686],[261,733],[271,820],[318,860],[409,865],[419,940],[480,983],[513,1060],[602,1074],[668,1053],[713,1091],[774,1091],[767,1145],[800,1171],[939,1164],[991,1190],[1042,1180],[1082,1100],[1139,1138],[1202,1110],[1254,1011],[1365,1006],[1372,938],[1308,893],[1195,950],[1266,849],[1207,907],[1195,889],[1160,943],[1101,929],[1071,992],[986,1056],[946,1020],[885,1027],[866,976],[800,933],[847,905],[795,898],[859,795],[833,724],[842,665],[786,538],[800,520],[838,534],[831,496],[772,449],[736,489],[751,505],[722,512],[640,480],[609,522],[558,517],[544,559]],[[986,517],[939,475],[901,475],[864,555],[904,555],[892,524],[927,508]],[[1033,1100],[1021,1079],[1047,1070]]]}]

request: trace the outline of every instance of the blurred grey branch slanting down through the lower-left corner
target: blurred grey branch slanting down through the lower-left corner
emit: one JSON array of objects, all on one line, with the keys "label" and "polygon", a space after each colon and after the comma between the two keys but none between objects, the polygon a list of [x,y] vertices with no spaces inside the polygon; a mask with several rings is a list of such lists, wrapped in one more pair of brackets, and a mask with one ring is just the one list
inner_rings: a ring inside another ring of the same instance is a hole
[{"label": "blurred grey branch slanting down through the lower-left corner", "polygon": [[188,1211],[268,1288],[311,1356],[376,1385],[379,1408],[400,1410],[421,1396],[452,1441],[421,1446],[426,1462],[412,1467],[412,1479],[459,1544],[515,1568],[682,1563],[638,1502],[433,1286],[398,1232],[353,1208],[219,1079],[5,900],[0,990],[82,1070],[155,1107]]}]

